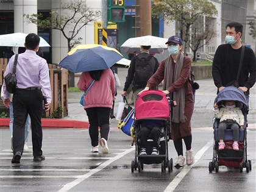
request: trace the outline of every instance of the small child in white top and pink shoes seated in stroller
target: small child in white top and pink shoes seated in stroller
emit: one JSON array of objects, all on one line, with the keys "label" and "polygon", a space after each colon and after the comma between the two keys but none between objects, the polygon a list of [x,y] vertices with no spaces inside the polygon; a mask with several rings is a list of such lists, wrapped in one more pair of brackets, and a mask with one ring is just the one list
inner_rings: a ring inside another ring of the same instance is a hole
[{"label": "small child in white top and pink shoes seated in stroller", "polygon": [[215,118],[219,120],[219,150],[225,148],[224,132],[227,128],[233,130],[233,150],[239,151],[238,138],[239,128],[244,129],[244,115],[239,107],[236,107],[235,101],[224,101],[224,105],[219,106],[217,103],[213,105],[213,113]]}]

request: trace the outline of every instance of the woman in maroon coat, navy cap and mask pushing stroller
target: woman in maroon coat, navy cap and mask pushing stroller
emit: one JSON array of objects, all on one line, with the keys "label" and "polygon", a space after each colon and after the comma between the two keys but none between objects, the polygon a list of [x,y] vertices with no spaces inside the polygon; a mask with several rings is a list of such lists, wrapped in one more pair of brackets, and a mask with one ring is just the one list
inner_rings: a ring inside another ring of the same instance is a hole
[{"label": "woman in maroon coat, navy cap and mask pushing stroller", "polygon": [[163,80],[163,92],[177,102],[177,106],[172,108],[171,138],[178,154],[174,166],[180,168],[185,163],[182,139],[187,149],[186,164],[193,165],[194,163],[194,152],[191,149],[191,117],[194,110],[193,89],[190,84],[191,60],[181,52],[182,39],[180,37],[169,37],[166,44],[168,44],[170,55],[162,61],[155,74],[148,80],[144,90],[157,87]]}]

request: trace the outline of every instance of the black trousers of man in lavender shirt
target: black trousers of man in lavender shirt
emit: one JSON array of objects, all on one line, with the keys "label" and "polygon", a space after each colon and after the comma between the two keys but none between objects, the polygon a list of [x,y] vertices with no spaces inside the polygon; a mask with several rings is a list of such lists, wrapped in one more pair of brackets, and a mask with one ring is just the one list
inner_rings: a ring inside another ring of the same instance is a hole
[{"label": "black trousers of man in lavender shirt", "polygon": [[43,132],[41,115],[43,112],[43,94],[41,90],[16,89],[13,94],[13,154],[20,151],[23,154],[24,133],[27,115],[31,118],[33,156],[39,157]]}]

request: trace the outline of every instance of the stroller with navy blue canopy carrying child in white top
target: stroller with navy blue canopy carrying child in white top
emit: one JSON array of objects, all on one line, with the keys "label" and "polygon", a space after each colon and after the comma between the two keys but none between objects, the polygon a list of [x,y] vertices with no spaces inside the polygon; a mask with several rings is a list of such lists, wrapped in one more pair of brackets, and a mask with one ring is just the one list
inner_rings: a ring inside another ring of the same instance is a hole
[{"label": "stroller with navy blue canopy carrying child in white top", "polygon": [[[209,172],[214,170],[218,172],[219,166],[240,168],[240,172],[243,172],[243,168],[246,168],[246,172],[251,171],[251,160],[247,160],[247,113],[249,112],[249,105],[246,96],[243,91],[236,87],[225,87],[216,96],[214,107],[217,114],[217,107],[219,108],[219,115],[216,115],[213,121],[213,158],[212,162],[209,162]],[[240,115],[236,114],[236,110]],[[228,113],[223,115],[224,111]],[[230,119],[234,121],[230,121]],[[239,124],[243,129],[238,129],[238,125],[236,128],[226,129],[227,125],[222,123],[227,123],[229,126]],[[236,132],[237,130],[239,133]]]}]

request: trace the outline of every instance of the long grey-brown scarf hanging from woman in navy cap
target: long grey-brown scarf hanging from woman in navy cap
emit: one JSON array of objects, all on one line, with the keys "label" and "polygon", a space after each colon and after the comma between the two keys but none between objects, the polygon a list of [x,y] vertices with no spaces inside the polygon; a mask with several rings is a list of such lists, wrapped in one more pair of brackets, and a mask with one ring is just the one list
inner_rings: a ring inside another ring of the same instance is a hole
[{"label": "long grey-brown scarf hanging from woman in navy cap", "polygon": [[[180,52],[180,55],[176,61],[175,68],[173,69],[173,60],[171,55],[165,61],[165,74],[163,80],[163,90],[167,90],[171,87],[176,80],[179,79],[183,68],[184,55]],[[172,108],[172,122],[185,123],[187,117],[185,116],[185,88],[184,85],[173,93],[168,95],[172,100],[176,101],[177,106]]]}]

